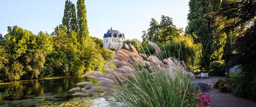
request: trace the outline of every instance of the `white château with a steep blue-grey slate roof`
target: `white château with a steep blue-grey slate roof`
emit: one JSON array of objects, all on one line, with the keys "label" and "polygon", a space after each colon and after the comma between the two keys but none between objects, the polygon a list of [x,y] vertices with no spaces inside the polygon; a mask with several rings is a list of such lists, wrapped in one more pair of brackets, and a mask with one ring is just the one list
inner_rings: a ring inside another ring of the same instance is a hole
[{"label": "white ch\u00e2teau with a steep blue-grey slate roof", "polygon": [[103,36],[103,47],[118,50],[123,47],[123,41],[126,41],[124,34],[111,28]]}]

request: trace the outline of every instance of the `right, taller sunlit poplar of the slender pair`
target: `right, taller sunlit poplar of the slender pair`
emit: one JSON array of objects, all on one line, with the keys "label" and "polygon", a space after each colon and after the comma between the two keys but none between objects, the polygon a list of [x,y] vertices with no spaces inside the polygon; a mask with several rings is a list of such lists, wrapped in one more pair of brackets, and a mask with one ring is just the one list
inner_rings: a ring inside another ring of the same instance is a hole
[{"label": "right, taller sunlit poplar of the slender pair", "polygon": [[83,46],[87,38],[89,37],[85,0],[77,0],[77,23],[79,27],[78,35],[79,35],[80,44]]}]

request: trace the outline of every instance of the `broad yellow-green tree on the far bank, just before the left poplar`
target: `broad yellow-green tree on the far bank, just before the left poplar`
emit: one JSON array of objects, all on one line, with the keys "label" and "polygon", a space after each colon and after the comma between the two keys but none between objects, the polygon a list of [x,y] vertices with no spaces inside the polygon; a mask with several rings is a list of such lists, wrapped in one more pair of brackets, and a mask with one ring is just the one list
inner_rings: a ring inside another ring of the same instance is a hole
[{"label": "broad yellow-green tree on the far bank, just before the left poplar", "polygon": [[67,33],[65,25],[59,25],[54,31],[55,51],[46,57],[46,76],[78,75],[84,73],[84,62],[80,59],[80,44],[77,33]]}]

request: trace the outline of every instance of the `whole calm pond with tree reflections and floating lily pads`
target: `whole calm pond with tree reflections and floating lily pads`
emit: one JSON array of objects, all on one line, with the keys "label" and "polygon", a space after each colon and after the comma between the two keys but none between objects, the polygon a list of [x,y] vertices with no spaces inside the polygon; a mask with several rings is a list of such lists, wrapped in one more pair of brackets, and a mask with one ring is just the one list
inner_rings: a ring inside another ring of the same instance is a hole
[{"label": "whole calm pond with tree reflections and floating lily pads", "polygon": [[0,83],[0,106],[110,106],[103,98],[71,96],[85,77],[49,77]]}]

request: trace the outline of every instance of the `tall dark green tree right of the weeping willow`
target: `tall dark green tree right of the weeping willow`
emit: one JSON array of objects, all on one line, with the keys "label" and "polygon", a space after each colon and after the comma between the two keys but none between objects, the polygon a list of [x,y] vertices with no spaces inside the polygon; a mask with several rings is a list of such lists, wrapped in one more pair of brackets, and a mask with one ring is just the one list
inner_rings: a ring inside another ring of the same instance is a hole
[{"label": "tall dark green tree right of the weeping willow", "polygon": [[205,14],[218,11],[221,0],[190,0],[188,13],[188,26],[186,33],[194,34],[194,42],[202,43],[204,60],[202,65],[206,68],[210,65],[210,56],[215,51],[213,19],[205,17]]}]

